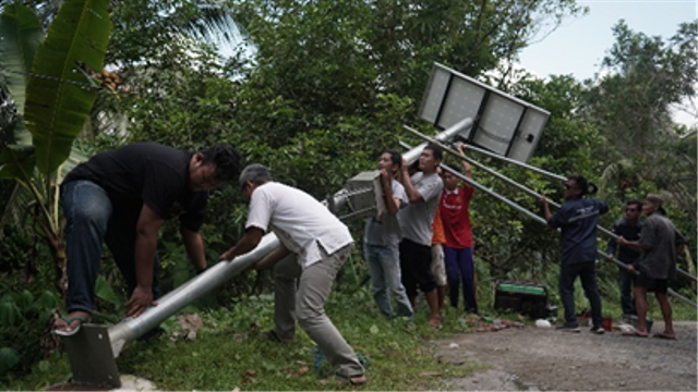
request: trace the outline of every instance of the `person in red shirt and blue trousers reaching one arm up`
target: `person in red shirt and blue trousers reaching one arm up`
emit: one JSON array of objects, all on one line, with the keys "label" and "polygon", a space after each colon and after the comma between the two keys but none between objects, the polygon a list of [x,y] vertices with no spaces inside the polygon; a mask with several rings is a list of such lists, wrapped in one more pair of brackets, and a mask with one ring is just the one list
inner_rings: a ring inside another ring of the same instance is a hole
[{"label": "person in red shirt and blue trousers reaching one arm up", "polygon": [[[456,147],[465,157],[465,144],[458,143]],[[472,179],[470,163],[466,160],[462,160],[462,170],[468,179]],[[474,188],[467,183],[459,187],[458,182],[456,175],[448,171],[444,172],[444,192],[438,204],[438,212],[446,234],[444,254],[446,256],[448,296],[450,306],[458,308],[458,296],[462,282],[465,310],[477,315],[476,268],[472,259],[472,231],[469,211]]]}]

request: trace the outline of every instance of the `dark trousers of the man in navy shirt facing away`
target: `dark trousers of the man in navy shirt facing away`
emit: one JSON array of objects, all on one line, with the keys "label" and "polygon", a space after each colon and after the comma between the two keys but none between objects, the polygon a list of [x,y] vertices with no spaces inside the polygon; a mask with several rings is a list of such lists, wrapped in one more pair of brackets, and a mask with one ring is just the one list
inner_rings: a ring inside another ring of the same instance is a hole
[{"label": "dark trousers of the man in navy shirt facing away", "polygon": [[559,299],[565,308],[565,323],[567,327],[578,327],[575,313],[575,280],[581,279],[585,295],[591,305],[591,320],[593,327],[602,327],[601,296],[597,286],[595,261],[574,265],[561,265],[559,267]]}]

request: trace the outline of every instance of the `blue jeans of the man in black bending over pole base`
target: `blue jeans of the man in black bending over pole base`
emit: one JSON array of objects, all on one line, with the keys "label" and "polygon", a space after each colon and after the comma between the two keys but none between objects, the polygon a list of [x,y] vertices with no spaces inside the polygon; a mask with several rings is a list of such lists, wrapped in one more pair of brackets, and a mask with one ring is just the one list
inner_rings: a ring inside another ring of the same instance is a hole
[{"label": "blue jeans of the man in black bending over pole base", "polygon": [[[136,286],[135,226],[140,210],[120,210],[111,203],[104,188],[83,180],[61,185],[61,207],[67,221],[68,311],[83,310],[92,314],[105,242],[127,281],[130,297]],[[156,257],[154,298],[158,296],[158,265]]]}]

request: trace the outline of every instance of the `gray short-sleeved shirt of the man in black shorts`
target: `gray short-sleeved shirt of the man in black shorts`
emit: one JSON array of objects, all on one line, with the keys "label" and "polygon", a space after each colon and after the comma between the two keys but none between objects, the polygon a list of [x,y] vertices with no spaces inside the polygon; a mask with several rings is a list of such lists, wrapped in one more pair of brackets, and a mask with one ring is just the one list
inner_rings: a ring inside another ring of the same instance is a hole
[{"label": "gray short-sleeved shirt of the man in black shorts", "polygon": [[422,201],[410,203],[398,212],[402,238],[417,244],[432,246],[434,213],[438,207],[438,197],[444,183],[436,173],[424,175],[422,172],[411,176],[412,185],[422,195]]}]

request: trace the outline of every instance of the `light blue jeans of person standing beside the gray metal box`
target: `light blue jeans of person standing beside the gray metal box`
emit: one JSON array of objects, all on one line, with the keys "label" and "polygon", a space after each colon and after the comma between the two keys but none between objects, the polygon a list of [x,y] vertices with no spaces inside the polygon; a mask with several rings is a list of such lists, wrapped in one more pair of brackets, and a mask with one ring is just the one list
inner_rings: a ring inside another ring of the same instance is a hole
[{"label": "light blue jeans of person standing beside the gray metal box", "polygon": [[378,310],[387,317],[394,316],[393,305],[390,304],[390,296],[388,294],[389,290],[389,293],[393,294],[395,303],[397,304],[398,316],[411,319],[414,316],[414,311],[402,285],[397,244],[392,246],[364,244],[363,253],[369,264],[373,297],[378,305]]}]

